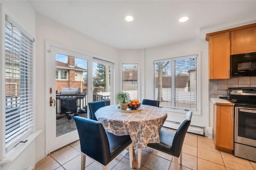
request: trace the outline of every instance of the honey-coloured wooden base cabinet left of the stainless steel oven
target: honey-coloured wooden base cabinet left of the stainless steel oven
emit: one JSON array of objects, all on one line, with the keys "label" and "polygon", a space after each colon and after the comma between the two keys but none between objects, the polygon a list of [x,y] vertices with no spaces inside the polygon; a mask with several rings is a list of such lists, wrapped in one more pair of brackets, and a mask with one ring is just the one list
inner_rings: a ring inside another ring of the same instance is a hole
[{"label": "honey-coloured wooden base cabinet left of the stainless steel oven", "polygon": [[[232,153],[234,150],[234,104],[226,100],[225,103],[214,103],[213,140],[215,148]],[[220,100],[220,99],[218,99]]]}]

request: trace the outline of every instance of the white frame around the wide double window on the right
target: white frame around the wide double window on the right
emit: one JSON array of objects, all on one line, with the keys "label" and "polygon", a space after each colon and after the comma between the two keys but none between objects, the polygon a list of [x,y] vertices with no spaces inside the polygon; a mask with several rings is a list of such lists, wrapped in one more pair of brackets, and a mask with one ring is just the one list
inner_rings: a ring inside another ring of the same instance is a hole
[{"label": "white frame around the wide double window on the right", "polygon": [[[188,54],[188,55],[182,55],[182,56],[177,56],[177,57],[173,57],[173,58],[168,58],[168,59],[160,59],[160,60],[155,60],[153,61],[153,65],[154,63],[156,62],[163,62],[163,61],[175,61],[176,59],[184,59],[184,58],[189,58],[193,55],[197,55],[197,70],[196,70],[196,75],[197,75],[197,80],[196,80],[196,83],[197,83],[197,103],[196,103],[196,107],[197,107],[197,110],[193,110],[193,109],[183,109],[183,108],[176,108],[176,107],[169,107],[169,106],[161,106],[160,107],[163,107],[165,108],[166,111],[171,111],[171,112],[176,112],[176,113],[187,113],[188,110],[192,111],[193,112],[193,115],[201,115],[201,78],[200,78],[200,75],[201,75],[201,53],[198,52],[198,53],[193,53],[193,54]],[[172,69],[174,69],[172,67]],[[154,72],[155,74],[155,72]],[[154,75],[155,77],[155,75]],[[174,84],[174,83],[172,83]],[[154,99],[156,99],[156,96],[155,96],[155,90],[156,90],[156,87],[155,87],[155,82],[154,82]]]}]

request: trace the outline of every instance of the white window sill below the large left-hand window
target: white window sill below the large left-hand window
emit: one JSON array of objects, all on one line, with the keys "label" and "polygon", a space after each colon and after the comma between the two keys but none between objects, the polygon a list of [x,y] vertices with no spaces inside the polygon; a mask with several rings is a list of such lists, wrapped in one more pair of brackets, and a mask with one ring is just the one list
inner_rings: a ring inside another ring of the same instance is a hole
[{"label": "white window sill below the large left-hand window", "polygon": [[6,153],[6,157],[3,160],[0,160],[0,164],[6,164],[13,162],[30,144],[33,140],[42,132],[42,130],[36,130],[28,135],[25,140],[28,140],[26,143],[19,143],[9,152]]}]

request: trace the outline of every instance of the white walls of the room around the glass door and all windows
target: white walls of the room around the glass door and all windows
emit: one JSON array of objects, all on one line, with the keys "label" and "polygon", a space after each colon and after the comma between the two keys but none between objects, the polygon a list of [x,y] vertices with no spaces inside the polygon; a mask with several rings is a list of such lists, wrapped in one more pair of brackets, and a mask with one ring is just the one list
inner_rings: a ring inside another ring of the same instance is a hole
[{"label": "white walls of the room around the glass door and all windows", "polygon": [[[102,59],[107,58],[114,61],[114,70],[116,73],[115,90],[120,91],[120,63],[123,61],[139,62],[141,66],[141,96],[147,99],[153,99],[153,65],[156,59],[166,59],[170,57],[178,57],[187,54],[201,52],[201,116],[193,115],[192,124],[203,125],[205,127],[212,126],[209,116],[209,87],[208,87],[208,42],[204,40],[205,30],[200,32],[200,38],[188,40],[186,42],[177,42],[175,44],[163,45],[141,50],[117,50],[104,43],[98,42],[88,36],[80,34],[66,26],[59,24],[40,14],[35,14],[34,9],[28,1],[1,1],[4,5],[6,13],[23,26],[32,36],[36,35],[36,129],[42,129],[42,133],[36,138],[29,148],[20,155],[11,164],[1,166],[1,169],[24,169],[28,165],[34,164],[45,156],[45,41],[60,43],[68,47],[72,47],[93,55],[97,55]],[[247,22],[247,21],[244,21]],[[240,22],[242,23],[242,22]],[[234,25],[234,23],[232,23]],[[227,24],[221,27],[214,27],[210,32],[220,30],[220,28],[231,27]],[[248,23],[249,24],[249,23]],[[179,121],[183,117],[182,114],[169,113],[168,119]],[[24,156],[24,154],[29,156]]]}]

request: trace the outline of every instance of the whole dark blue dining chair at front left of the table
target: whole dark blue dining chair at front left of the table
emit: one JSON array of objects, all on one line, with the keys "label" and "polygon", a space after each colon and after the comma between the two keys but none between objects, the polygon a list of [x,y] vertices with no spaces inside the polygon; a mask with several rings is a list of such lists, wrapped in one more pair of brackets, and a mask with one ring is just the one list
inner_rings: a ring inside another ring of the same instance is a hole
[{"label": "whole dark blue dining chair at front left of the table", "polygon": [[78,116],[73,119],[80,138],[81,170],[85,169],[86,156],[102,164],[103,170],[108,170],[108,164],[127,147],[132,168],[132,140],[129,135],[116,136],[107,132],[98,121]]}]

